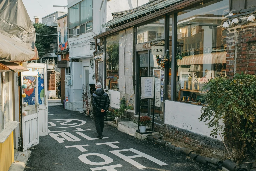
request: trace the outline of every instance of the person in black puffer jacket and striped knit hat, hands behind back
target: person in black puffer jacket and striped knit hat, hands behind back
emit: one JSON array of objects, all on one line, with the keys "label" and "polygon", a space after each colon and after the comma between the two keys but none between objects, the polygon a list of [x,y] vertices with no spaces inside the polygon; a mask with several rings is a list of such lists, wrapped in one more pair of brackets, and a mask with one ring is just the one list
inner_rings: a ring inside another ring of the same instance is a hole
[{"label": "person in black puffer jacket and striped knit hat, hands behind back", "polygon": [[98,133],[96,136],[102,139],[102,132],[104,128],[104,117],[107,115],[107,110],[109,108],[110,100],[108,94],[102,89],[100,82],[95,84],[96,90],[92,94],[92,114],[94,117],[95,127]]}]

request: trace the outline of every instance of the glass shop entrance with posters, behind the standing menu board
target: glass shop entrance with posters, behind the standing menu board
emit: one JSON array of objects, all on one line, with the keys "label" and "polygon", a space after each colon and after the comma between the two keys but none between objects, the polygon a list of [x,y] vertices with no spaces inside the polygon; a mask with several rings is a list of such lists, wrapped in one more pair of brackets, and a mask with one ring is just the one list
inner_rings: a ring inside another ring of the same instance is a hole
[{"label": "glass shop entrance with posters, behind the standing menu board", "polygon": [[[161,58],[161,55],[160,55]],[[163,115],[163,85],[164,85],[164,70],[156,63],[155,55],[151,54],[151,50],[138,52],[138,73],[139,81],[140,76],[153,76],[155,75],[155,112],[154,119],[159,121],[164,120]],[[140,84],[138,84],[138,89],[140,92]],[[153,116],[153,104],[154,99],[143,99],[140,100],[140,113],[141,115]]]}]

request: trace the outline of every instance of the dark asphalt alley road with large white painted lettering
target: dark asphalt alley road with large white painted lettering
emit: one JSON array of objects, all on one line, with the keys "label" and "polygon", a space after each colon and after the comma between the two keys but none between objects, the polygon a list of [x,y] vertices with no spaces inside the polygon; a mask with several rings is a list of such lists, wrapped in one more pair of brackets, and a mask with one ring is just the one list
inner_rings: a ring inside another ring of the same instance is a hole
[{"label": "dark asphalt alley road with large white painted lettering", "polygon": [[[25,171],[214,170],[173,149],[139,140],[109,125],[105,125],[103,131],[103,137],[108,138],[94,139],[97,136],[94,121],[77,111],[65,110],[62,106],[49,106],[48,120],[51,132],[40,137],[39,144],[31,149]],[[115,143],[96,145],[106,142]],[[74,145],[84,146],[70,147]],[[114,169],[107,169],[106,166],[113,166]]]}]

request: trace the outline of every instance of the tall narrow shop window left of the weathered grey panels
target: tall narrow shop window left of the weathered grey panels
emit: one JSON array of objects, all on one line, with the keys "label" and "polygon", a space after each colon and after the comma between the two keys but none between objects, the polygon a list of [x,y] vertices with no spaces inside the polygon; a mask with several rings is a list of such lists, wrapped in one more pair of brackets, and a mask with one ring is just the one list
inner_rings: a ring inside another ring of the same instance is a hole
[{"label": "tall narrow shop window left of the weathered grey panels", "polygon": [[[116,90],[116,91],[119,91],[118,55],[119,55],[119,33],[106,38],[106,88],[110,90]],[[101,68],[99,65],[99,70],[100,69]],[[101,73],[99,72],[99,78],[100,77],[101,77]]]}]

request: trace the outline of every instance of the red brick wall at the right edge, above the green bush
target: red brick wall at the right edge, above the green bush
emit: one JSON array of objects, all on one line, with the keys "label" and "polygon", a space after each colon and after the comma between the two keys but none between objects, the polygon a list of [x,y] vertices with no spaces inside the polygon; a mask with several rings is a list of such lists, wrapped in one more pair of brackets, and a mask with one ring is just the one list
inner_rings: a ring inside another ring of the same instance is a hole
[{"label": "red brick wall at the right edge, above the green bush", "polygon": [[226,75],[256,74],[256,24],[227,29]]}]

